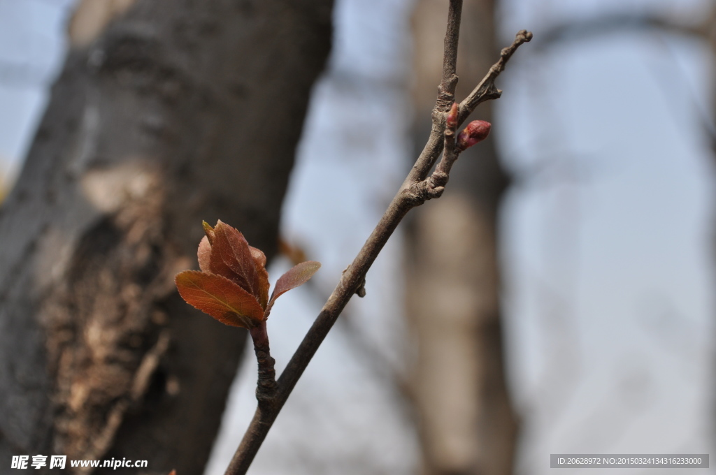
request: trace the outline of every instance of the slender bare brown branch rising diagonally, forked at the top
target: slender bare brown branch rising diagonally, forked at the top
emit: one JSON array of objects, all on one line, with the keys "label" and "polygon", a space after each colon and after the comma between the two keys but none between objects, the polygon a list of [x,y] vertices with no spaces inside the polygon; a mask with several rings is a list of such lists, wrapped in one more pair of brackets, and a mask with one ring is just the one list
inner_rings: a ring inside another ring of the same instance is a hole
[{"label": "slender bare brown branch rising diagonally, forked at the top", "polygon": [[[253,416],[246,435],[236,450],[231,464],[226,469],[226,475],[243,475],[246,474],[248,466],[251,465],[253,457],[256,456],[261,443],[266,438],[271,425],[279,415],[279,411],[286,403],[291,391],[304,373],[311,358],[318,350],[321,343],[328,335],[329,330],[336,322],[338,316],[346,306],[350,298],[357,293],[365,280],[365,275],[370,266],[377,258],[378,253],[382,250],[388,238],[395,231],[398,223],[413,207],[422,205],[425,200],[433,197],[439,197],[448,182],[448,173],[435,170],[433,174],[427,178],[433,165],[440,156],[445,142],[454,140],[450,137],[454,134],[455,127],[452,130],[445,130],[446,113],[454,102],[455,86],[458,77],[455,74],[455,64],[457,61],[458,51],[458,35],[460,34],[460,14],[462,10],[462,0],[450,0],[450,9],[448,11],[448,31],[445,34],[445,54],[442,70],[442,82],[438,88],[438,97],[435,102],[435,108],[432,111],[432,131],[425,145],[425,148],[418,157],[415,165],[412,167],[410,174],[406,178],[400,190],[397,192],[392,202],[388,206],[384,215],[378,222],[363,248],[358,253],[353,263],[344,271],[338,285],[328,298],[324,308],[311,325],[308,333],[301,341],[299,348],[296,349],[294,356],[289,361],[288,366],[281,374],[278,381],[276,394],[271,398],[270,403],[259,403],[256,413]],[[485,76],[476,93],[473,92],[475,98],[470,102],[460,104],[460,120],[457,125],[463,122],[468,115],[473,112],[480,102],[488,99],[496,99],[494,94],[489,92],[495,89],[494,82],[500,72],[503,71],[505,63],[510,59],[515,50],[525,41],[529,41],[532,34],[526,31],[520,31],[515,41],[508,48],[503,49],[500,60],[490,68],[490,72]],[[480,92],[485,88],[484,94]],[[496,89],[495,89],[496,90]],[[470,94],[470,96],[473,96]],[[480,94],[483,94],[480,96]],[[459,155],[460,150],[457,147],[448,145],[448,157],[444,160],[454,162]],[[444,168],[444,167],[443,167]],[[449,169],[449,167],[448,167]]]}]

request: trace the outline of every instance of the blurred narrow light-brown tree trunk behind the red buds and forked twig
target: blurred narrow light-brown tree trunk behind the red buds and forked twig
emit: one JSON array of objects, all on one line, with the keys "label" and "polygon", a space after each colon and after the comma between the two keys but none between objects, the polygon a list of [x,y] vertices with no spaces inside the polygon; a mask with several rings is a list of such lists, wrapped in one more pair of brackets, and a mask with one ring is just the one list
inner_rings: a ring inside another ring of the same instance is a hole
[{"label": "blurred narrow light-brown tree trunk behind the red buds and forked twig", "polygon": [[[417,143],[430,130],[447,4],[421,0],[415,10]],[[459,99],[498,58],[494,6],[465,0]],[[490,102],[473,119],[491,121]],[[508,177],[494,144],[488,139],[463,153],[445,195],[415,210],[408,232],[407,315],[418,352],[412,393],[424,474],[512,473],[517,420],[505,383],[495,235]]]}]

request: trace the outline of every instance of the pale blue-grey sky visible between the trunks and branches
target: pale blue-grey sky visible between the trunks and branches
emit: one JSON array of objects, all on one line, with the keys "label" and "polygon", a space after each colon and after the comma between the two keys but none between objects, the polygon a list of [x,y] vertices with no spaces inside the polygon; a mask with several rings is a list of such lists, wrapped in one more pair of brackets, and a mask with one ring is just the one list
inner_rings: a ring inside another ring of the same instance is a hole
[{"label": "pale blue-grey sky visible between the trunks and branches", "polygon": [[[32,139],[44,84],[62,59],[67,4],[0,0],[0,66],[42,72],[29,85],[14,79],[20,73],[0,72],[0,160],[18,163]],[[604,11],[698,18],[701,4],[505,0],[503,42],[523,28],[537,41],[551,21]],[[409,0],[337,3],[331,71],[340,74],[326,74],[315,89],[283,221],[284,233],[324,263],[316,279],[326,291],[407,166],[409,9]],[[505,92],[493,127],[519,177],[501,227],[509,378],[523,415],[519,473],[546,474],[551,453],[709,452],[714,175],[697,120],[712,103],[708,51],[648,31],[539,54],[531,46],[498,81]],[[319,137],[330,137],[327,147]],[[352,303],[378,348],[400,348],[401,259],[399,233],[369,273],[367,298]],[[274,278],[284,265],[275,263]],[[269,331],[279,368],[320,305],[305,290],[276,305]],[[380,333],[385,322],[391,330]],[[223,471],[253,413],[253,356],[246,361],[226,421],[232,429],[208,475]],[[335,328],[251,473],[303,464],[290,473],[410,474],[417,459],[389,391]]]}]

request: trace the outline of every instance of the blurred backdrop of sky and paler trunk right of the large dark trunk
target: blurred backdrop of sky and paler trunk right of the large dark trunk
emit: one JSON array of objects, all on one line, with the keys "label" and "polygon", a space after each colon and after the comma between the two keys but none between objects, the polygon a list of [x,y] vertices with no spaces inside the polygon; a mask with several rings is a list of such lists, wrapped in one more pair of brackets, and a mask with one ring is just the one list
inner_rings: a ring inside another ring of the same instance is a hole
[{"label": "blurred backdrop of sky and paler trunk right of the large dark trunk", "polygon": [[[74,6],[0,0],[3,195]],[[493,133],[392,237],[250,473],[546,474],[555,453],[712,452],[713,11],[465,0],[460,99],[516,31],[534,34],[473,114]],[[301,253],[323,268],[271,315],[279,371],[427,139],[446,16],[445,0],[334,4],[269,274]],[[206,475],[253,415],[251,353]]]}]

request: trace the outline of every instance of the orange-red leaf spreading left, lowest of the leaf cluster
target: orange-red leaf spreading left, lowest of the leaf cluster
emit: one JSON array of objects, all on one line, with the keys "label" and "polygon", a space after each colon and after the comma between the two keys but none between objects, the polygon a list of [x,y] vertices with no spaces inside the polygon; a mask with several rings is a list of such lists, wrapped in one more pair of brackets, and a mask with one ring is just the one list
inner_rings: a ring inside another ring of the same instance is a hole
[{"label": "orange-red leaf spreading left, lowest of the leaf cluster", "polygon": [[226,325],[252,328],[263,320],[256,298],[221,275],[185,270],[175,283],[189,305]]}]

